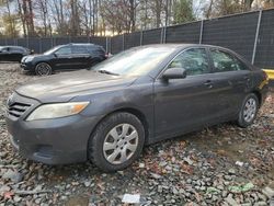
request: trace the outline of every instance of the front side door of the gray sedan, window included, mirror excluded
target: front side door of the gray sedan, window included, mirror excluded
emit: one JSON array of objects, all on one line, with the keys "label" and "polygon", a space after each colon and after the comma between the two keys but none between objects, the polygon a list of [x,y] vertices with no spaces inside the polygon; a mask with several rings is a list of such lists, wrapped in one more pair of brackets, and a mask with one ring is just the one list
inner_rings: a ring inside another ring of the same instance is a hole
[{"label": "front side door of the gray sedan, window included, mirror excluded", "polygon": [[186,78],[155,82],[155,134],[161,138],[206,126],[215,121],[218,88],[214,85],[206,48],[190,48],[168,66],[186,70]]}]

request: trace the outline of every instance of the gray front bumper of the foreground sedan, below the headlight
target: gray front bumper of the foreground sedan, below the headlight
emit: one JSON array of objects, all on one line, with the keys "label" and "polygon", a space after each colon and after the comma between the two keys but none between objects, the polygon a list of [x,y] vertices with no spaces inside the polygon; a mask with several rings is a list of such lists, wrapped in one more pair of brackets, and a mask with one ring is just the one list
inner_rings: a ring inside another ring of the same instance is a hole
[{"label": "gray front bumper of the foreground sedan, below the headlight", "polygon": [[89,137],[99,117],[78,114],[55,119],[24,121],[31,111],[19,118],[5,114],[11,142],[20,154],[46,164],[87,161]]}]

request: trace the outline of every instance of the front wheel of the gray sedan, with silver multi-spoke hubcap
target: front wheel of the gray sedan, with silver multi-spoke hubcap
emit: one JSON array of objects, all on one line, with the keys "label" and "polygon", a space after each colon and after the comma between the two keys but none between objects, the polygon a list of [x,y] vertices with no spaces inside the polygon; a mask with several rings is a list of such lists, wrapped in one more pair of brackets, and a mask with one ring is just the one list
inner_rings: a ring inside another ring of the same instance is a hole
[{"label": "front wheel of the gray sedan, with silver multi-spoke hubcap", "polygon": [[144,144],[145,129],[139,118],[130,113],[114,113],[91,135],[88,157],[102,171],[115,172],[130,165],[140,156]]}]

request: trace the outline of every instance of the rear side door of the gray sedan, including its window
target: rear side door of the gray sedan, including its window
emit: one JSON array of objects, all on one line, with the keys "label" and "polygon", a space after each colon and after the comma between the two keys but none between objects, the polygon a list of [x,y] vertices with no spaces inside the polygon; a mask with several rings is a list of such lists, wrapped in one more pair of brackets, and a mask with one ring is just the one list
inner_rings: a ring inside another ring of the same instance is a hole
[{"label": "rear side door of the gray sedan, including its window", "polygon": [[246,94],[252,87],[251,71],[233,54],[219,48],[210,48],[209,50],[214,78],[220,88],[218,100],[224,107],[220,115],[237,115]]}]

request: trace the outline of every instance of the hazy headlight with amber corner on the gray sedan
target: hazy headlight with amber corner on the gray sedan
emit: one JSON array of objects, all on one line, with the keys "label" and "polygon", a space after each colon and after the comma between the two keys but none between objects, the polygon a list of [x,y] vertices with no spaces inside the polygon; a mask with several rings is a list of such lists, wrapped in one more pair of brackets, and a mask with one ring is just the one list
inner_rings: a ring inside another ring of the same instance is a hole
[{"label": "hazy headlight with amber corner on the gray sedan", "polygon": [[44,104],[34,110],[26,121],[37,121],[45,118],[58,118],[80,113],[88,106],[89,102],[69,102]]}]

